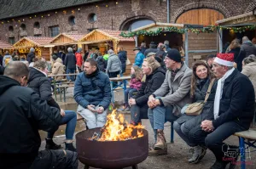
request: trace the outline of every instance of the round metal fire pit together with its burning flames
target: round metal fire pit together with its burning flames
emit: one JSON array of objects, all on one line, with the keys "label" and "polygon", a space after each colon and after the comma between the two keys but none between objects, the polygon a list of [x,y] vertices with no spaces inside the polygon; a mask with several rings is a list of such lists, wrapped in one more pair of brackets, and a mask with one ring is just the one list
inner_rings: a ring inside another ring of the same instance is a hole
[{"label": "round metal fire pit together with its burning flames", "polygon": [[137,169],[137,164],[148,157],[148,131],[128,124],[123,115],[113,111],[105,127],[79,132],[76,145],[84,169]]}]

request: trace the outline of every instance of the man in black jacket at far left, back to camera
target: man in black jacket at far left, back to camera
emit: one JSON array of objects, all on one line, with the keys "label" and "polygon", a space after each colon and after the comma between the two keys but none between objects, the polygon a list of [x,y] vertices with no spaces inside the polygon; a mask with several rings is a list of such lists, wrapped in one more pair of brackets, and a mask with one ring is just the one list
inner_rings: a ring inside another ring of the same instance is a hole
[{"label": "man in black jacket at far left, back to camera", "polygon": [[38,130],[54,132],[60,124],[60,110],[26,86],[28,69],[11,62],[0,76],[0,168],[78,168],[77,153],[38,149]]}]

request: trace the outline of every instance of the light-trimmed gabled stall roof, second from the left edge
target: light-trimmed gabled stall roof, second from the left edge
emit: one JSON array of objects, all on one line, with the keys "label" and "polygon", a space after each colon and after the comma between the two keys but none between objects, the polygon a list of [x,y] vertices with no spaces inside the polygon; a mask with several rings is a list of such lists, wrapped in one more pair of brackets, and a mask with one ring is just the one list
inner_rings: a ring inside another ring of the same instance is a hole
[{"label": "light-trimmed gabled stall roof, second from the left edge", "polygon": [[52,39],[53,37],[22,37],[20,41],[15,42],[14,48],[44,47]]}]

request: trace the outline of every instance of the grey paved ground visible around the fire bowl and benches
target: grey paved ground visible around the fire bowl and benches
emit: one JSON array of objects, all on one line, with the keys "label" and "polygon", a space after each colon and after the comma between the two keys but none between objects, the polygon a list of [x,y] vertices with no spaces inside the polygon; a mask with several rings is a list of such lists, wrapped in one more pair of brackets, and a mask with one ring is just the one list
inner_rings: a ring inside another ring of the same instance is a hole
[{"label": "grey paved ground visible around the fire bowl and benches", "polygon": [[[120,104],[123,100],[123,93],[121,91],[115,92],[115,100]],[[73,88],[68,89],[67,91],[67,105],[65,106],[63,103],[61,104],[61,107],[64,107],[66,110],[75,110],[76,104],[74,104],[73,98]],[[130,114],[125,114],[125,119],[127,121],[130,121]],[[161,156],[154,156],[154,157],[148,157],[145,161],[138,164],[138,167],[140,169],[208,169],[212,164],[214,163],[214,155],[211,151],[207,150],[207,155],[203,158],[201,163],[197,165],[191,165],[187,161],[189,159],[189,156],[191,155],[189,153],[189,146],[183,142],[179,136],[175,133],[174,135],[174,144],[170,144],[170,123],[166,123],[165,127],[165,134],[168,144],[168,155],[161,155]],[[148,120],[143,120],[143,126],[148,130],[148,136],[149,136],[149,144],[152,145],[154,143],[154,134],[150,127]],[[79,121],[76,127],[76,132],[84,130],[84,122]],[[55,133],[55,142],[57,144],[61,144],[64,148],[64,134],[65,132],[65,126],[61,126],[59,131]],[[45,146],[45,132],[40,132],[41,138],[42,138],[42,145],[40,149],[44,149]],[[228,144],[236,144],[238,145],[238,138],[236,137],[230,137],[226,140],[226,143]],[[253,148],[250,149],[251,151],[255,150]],[[251,160],[250,165],[247,165],[247,169],[255,169],[256,168],[256,152],[251,152]],[[79,163],[79,169],[83,169],[84,165]],[[131,167],[127,167],[125,169],[130,169]],[[236,169],[240,168],[239,166],[236,166]]]}]

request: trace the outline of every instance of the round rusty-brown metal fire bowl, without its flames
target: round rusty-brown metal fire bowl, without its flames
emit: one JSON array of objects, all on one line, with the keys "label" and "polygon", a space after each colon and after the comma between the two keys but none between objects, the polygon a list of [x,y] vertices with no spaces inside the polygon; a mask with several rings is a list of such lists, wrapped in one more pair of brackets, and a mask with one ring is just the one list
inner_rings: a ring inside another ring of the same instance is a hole
[{"label": "round rusty-brown metal fire bowl, without its flames", "polygon": [[100,128],[77,133],[76,145],[79,161],[96,168],[124,168],[141,163],[148,157],[148,131],[144,136],[126,141],[91,141],[94,132]]}]

